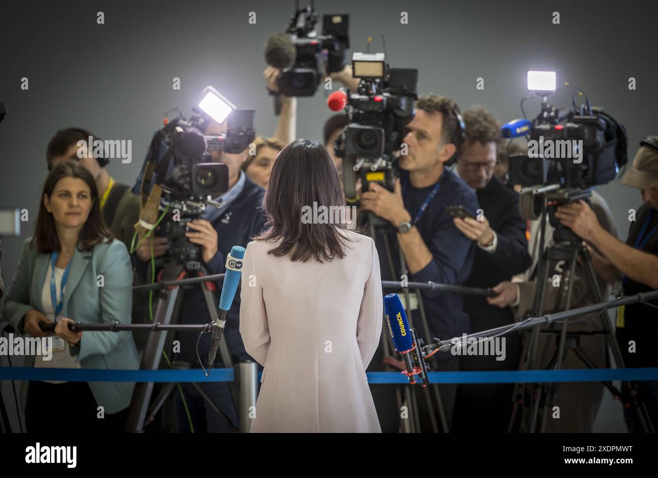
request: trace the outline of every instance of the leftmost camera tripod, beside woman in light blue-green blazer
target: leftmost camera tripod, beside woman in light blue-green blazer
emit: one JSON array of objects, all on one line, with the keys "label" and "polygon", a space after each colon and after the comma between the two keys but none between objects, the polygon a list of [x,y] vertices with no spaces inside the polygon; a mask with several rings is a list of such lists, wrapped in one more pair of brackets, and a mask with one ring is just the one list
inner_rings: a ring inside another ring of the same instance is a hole
[{"label": "leftmost camera tripod, beside woman in light blue-green blazer", "polygon": [[[198,275],[199,277],[209,275],[205,266],[203,266],[203,264],[201,264],[201,262],[198,260],[184,261],[180,259],[168,258],[161,261],[161,264],[163,265],[163,268],[159,273],[160,281],[177,281],[184,279],[189,275]],[[191,287],[194,287],[195,285],[201,287],[201,291],[203,292],[203,297],[205,299],[206,307],[210,317],[209,322],[214,322],[218,311],[215,302],[215,283],[209,281],[194,284]],[[157,306],[155,308],[153,323],[177,324],[180,320],[180,309],[183,303],[184,293],[185,290],[180,285],[174,285],[172,287],[168,287],[166,291],[160,291]],[[140,369],[157,370],[163,356],[164,344],[170,343],[170,340],[168,339],[172,338],[173,337],[170,337],[169,334],[157,332],[149,333],[149,339],[144,350]],[[226,346],[226,341],[220,342],[219,351],[224,367],[231,368],[233,364],[230,352]],[[176,368],[189,368],[189,364],[185,364],[184,362],[174,362],[174,364],[176,364]],[[212,364],[209,365],[212,366]],[[199,385],[193,383],[193,386],[197,388],[197,391],[199,391],[201,396],[220,416],[220,419],[222,419],[222,421],[224,421],[224,423],[230,427],[235,428],[235,425],[233,425],[230,419],[228,419],[228,417],[226,417],[220,408],[216,406],[213,400],[211,400],[209,396],[201,391]],[[235,383],[229,383],[229,387],[234,405],[236,406],[237,410],[238,392],[236,390]],[[153,400],[153,406],[149,408],[149,402],[151,402],[153,388],[153,382],[135,384],[135,391],[133,393],[132,402],[130,404],[130,414],[128,416],[126,431],[137,433],[143,432],[145,425],[153,420],[153,417],[163,406],[166,398],[168,398],[168,396],[175,390],[174,384],[172,383],[164,385],[155,400]]]}]

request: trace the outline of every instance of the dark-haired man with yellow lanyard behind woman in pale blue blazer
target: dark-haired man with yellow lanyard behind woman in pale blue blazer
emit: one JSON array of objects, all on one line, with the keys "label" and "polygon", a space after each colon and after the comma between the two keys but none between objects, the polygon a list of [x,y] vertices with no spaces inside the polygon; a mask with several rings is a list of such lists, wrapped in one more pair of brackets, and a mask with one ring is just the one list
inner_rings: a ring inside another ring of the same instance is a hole
[{"label": "dark-haired man with yellow lanyard behind woman in pale blue blazer", "polygon": [[66,128],[57,131],[46,149],[48,170],[67,159],[82,162],[96,181],[105,224],[114,237],[122,241],[126,245],[126,249],[130,251],[130,243],[135,233],[133,226],[139,220],[139,197],[130,192],[128,185],[117,183],[109,175],[105,168],[109,164],[109,160],[103,155],[92,155],[91,152],[94,149],[92,145],[88,145],[88,154],[85,157],[78,157],[80,149],[78,141],[84,140],[86,144],[89,137],[93,142],[102,141],[83,128]]}]

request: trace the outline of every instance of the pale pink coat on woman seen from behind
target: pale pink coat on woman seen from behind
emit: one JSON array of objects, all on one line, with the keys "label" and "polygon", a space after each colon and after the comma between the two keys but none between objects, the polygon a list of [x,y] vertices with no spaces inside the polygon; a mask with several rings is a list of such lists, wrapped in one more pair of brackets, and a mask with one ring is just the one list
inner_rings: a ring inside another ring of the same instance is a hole
[{"label": "pale pink coat on woman seen from behind", "polygon": [[365,370],[382,333],[370,237],[344,231],[347,256],[293,262],[247,245],[240,334],[265,367],[251,432],[381,432]]}]

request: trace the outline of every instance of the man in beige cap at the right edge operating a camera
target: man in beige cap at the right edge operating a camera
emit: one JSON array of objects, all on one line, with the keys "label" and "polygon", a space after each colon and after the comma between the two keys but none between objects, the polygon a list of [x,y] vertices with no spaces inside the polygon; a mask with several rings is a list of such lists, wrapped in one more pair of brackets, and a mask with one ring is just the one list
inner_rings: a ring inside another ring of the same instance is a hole
[{"label": "man in beige cap at the right edge operating a camera", "polygon": [[[629,211],[626,243],[600,226],[586,203],[558,208],[555,216],[582,239],[592,243],[592,264],[607,283],[621,277],[624,295],[658,289],[658,135],[640,141],[630,170],[621,183],[642,191],[644,204]],[[658,366],[658,299],[617,309],[617,341],[626,367]],[[654,429],[658,427],[658,381],[637,384]],[[643,431],[633,408],[624,408],[628,431]]]}]

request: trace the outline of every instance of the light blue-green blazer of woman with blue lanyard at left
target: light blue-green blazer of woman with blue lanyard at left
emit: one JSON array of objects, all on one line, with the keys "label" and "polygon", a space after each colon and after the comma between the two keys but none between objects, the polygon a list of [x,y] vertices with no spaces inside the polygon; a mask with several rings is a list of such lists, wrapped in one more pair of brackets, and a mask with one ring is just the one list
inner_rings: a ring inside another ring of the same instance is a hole
[{"label": "light blue-green blazer of woman with blue lanyard at left", "polygon": [[[49,268],[50,254],[39,254],[30,245],[32,238],[23,244],[18,270],[5,297],[3,314],[14,329],[24,333],[23,317],[33,308],[43,312],[41,291]],[[80,245],[78,245],[80,247]],[[132,266],[126,246],[117,239],[97,244],[91,251],[78,248],[70,262],[64,292],[64,316],[82,323],[130,323],[132,310]],[[99,287],[98,275],[103,275]],[[70,348],[78,355],[82,368],[132,369],[139,368],[139,359],[132,333],[84,331],[80,347]],[[25,366],[34,364],[34,356],[27,356]],[[21,386],[22,410],[27,402],[28,383]],[[105,413],[120,412],[132,398],[134,383],[90,382],[89,388]]]}]

